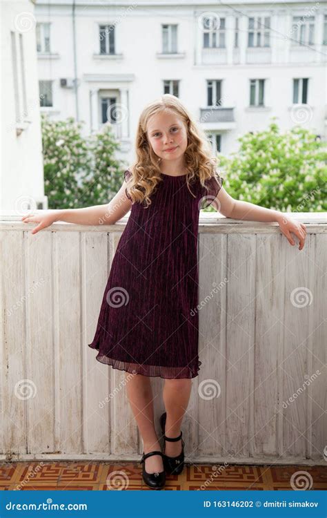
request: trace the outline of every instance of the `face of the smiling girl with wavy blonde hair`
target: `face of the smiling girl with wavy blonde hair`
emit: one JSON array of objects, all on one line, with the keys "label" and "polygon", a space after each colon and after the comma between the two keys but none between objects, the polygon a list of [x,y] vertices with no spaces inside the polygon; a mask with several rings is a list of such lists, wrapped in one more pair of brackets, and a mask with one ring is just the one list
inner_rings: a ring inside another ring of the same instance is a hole
[{"label": "face of the smiling girl with wavy blonde hair", "polygon": [[161,160],[170,162],[183,157],[188,146],[187,130],[175,113],[163,111],[152,115],[146,133],[150,146]]}]

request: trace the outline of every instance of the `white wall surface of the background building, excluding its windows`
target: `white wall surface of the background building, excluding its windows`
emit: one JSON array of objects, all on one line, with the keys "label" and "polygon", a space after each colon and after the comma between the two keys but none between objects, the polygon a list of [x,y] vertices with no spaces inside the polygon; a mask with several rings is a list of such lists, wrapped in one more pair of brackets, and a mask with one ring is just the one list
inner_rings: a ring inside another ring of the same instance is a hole
[{"label": "white wall surface of the background building, excluding its windows", "polygon": [[[37,20],[50,21],[51,59],[39,59],[39,77],[54,81],[53,117],[63,119],[75,115],[74,90],[63,90],[60,77],[74,77],[72,50],[71,1],[37,0]],[[180,79],[179,98],[188,106],[196,119],[200,108],[206,108],[206,80],[223,80],[223,105],[234,107],[235,124],[203,124],[204,129],[221,131],[222,151],[230,153],[238,148],[237,137],[247,131],[261,130],[268,126],[271,117],[277,117],[282,129],[297,122],[326,138],[326,46],[322,45],[324,14],[327,8],[317,3],[250,3],[243,1],[232,8],[219,7],[217,2],[170,1],[170,6],[158,6],[145,1],[137,7],[126,7],[126,2],[77,2],[76,41],[77,77],[79,79],[79,114],[86,122],[86,132],[91,131],[90,90],[99,88],[123,88],[128,96],[128,135],[124,142],[126,157],[130,160],[134,147],[134,135],[141,109],[151,99],[163,93],[164,79]],[[201,8],[201,3],[203,8]],[[313,10],[315,16],[315,45],[293,46],[285,35],[292,35],[293,15],[305,16]],[[212,60],[212,52],[201,48],[199,17],[203,12],[217,12],[226,17],[226,50],[218,49]],[[270,15],[270,49],[248,49],[248,17]],[[239,49],[235,50],[234,21],[239,16]],[[95,57],[99,53],[99,23],[117,21],[115,30],[116,52],[121,59]],[[161,23],[178,24],[178,50],[184,57],[157,57],[161,52]],[[271,56],[270,62],[262,62],[261,55]],[[309,77],[308,113],[293,111],[293,78]],[[250,79],[266,79],[265,108],[249,108]],[[125,101],[121,100],[123,104]]]}]

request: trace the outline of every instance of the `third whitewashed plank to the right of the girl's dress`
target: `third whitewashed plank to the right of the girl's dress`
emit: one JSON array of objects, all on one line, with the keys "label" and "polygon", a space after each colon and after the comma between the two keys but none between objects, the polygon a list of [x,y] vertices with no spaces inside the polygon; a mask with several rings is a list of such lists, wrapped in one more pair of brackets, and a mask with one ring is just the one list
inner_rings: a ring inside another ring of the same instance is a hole
[{"label": "third whitewashed plank to the right of the girl's dress", "polygon": [[[257,236],[254,365],[254,457],[278,454],[285,246],[284,237]],[[252,375],[252,374],[250,374]],[[252,444],[252,442],[251,442]]]}]

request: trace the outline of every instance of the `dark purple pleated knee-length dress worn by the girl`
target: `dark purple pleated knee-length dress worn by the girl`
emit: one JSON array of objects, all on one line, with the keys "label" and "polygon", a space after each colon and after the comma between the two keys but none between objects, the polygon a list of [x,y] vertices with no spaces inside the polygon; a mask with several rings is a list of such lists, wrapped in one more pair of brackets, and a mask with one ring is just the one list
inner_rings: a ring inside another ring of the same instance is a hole
[{"label": "dark purple pleated knee-length dress worn by the girl", "polygon": [[[125,171],[125,180],[130,175]],[[190,184],[193,197],[186,175],[162,176],[147,209],[132,204],[89,347],[98,350],[99,362],[115,369],[194,378],[201,365],[194,311],[199,210],[217,196],[224,179],[216,173],[206,180],[208,191],[197,179]]]}]

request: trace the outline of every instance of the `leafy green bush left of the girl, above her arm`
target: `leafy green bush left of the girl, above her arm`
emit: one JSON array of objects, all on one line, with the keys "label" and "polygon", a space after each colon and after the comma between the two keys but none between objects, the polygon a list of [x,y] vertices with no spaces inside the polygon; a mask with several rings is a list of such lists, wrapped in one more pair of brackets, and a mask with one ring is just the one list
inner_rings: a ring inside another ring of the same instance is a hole
[{"label": "leafy green bush left of the girl, above her arm", "polygon": [[83,123],[71,117],[52,121],[42,115],[45,194],[50,209],[77,209],[109,202],[123,180],[114,159],[119,147],[110,125],[83,137]]}]

